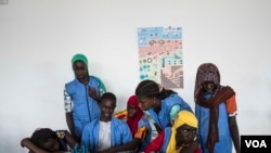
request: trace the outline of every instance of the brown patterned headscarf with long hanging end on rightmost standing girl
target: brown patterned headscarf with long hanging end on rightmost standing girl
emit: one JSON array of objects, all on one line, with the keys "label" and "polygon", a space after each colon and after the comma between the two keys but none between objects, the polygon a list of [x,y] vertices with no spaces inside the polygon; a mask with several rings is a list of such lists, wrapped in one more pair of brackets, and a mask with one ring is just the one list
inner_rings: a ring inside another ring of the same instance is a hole
[{"label": "brown patterned headscarf with long hanging end on rightmost standing girl", "polygon": [[[216,85],[212,97],[208,100],[204,98],[205,91],[202,88],[204,81],[212,81]],[[194,99],[195,103],[199,106],[209,109],[209,129],[207,148],[210,153],[214,152],[216,142],[219,141],[218,135],[218,118],[219,118],[219,104],[227,101],[234,95],[235,92],[229,86],[221,88],[220,73],[218,67],[212,63],[204,63],[197,68]]]}]

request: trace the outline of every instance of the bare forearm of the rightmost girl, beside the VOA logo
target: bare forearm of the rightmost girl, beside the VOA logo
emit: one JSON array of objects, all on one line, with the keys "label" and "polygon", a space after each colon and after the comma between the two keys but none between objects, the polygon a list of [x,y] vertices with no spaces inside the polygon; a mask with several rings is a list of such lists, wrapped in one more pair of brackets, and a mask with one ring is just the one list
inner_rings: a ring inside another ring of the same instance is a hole
[{"label": "bare forearm of the rightmost girl, beside the VOA logo", "polygon": [[230,125],[230,131],[231,131],[231,137],[232,141],[235,148],[236,153],[241,152],[241,142],[240,142],[240,133],[238,133],[238,126],[236,122],[235,116],[229,116],[229,125]]}]

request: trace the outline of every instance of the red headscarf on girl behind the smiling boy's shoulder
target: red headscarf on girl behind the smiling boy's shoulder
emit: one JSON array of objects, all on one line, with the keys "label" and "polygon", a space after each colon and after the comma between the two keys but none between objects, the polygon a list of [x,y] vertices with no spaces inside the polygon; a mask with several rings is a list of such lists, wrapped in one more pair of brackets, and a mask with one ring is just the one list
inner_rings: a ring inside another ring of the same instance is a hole
[{"label": "red headscarf on girl behind the smiling boy's shoulder", "polygon": [[131,95],[129,100],[127,101],[127,106],[133,105],[137,107],[137,114],[134,117],[130,117],[128,115],[127,117],[127,124],[132,132],[132,136],[138,131],[138,124],[140,118],[143,116],[143,111],[139,107],[139,101],[136,95]]}]

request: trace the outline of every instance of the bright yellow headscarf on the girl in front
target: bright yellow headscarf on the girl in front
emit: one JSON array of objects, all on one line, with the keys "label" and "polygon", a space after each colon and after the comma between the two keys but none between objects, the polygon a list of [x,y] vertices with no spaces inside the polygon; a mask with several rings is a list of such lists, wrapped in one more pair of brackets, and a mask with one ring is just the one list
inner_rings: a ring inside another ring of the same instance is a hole
[{"label": "bright yellow headscarf on the girl in front", "polygon": [[191,127],[197,128],[197,118],[196,116],[190,111],[180,111],[177,114],[177,118],[175,120],[173,126],[171,127],[171,136],[167,148],[167,153],[178,153],[179,150],[176,150],[176,135],[177,129],[182,125],[189,125]]}]

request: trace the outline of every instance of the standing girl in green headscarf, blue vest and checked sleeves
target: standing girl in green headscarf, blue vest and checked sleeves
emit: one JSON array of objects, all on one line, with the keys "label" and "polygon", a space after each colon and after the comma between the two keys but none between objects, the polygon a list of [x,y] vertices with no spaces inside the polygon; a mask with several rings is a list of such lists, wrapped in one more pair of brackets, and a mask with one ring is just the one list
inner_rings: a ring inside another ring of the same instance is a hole
[{"label": "standing girl in green headscarf, blue vest and checked sleeves", "polygon": [[64,102],[68,129],[79,142],[83,126],[100,116],[99,102],[105,87],[98,77],[89,75],[86,55],[75,54],[72,67],[75,79],[65,84]]}]

